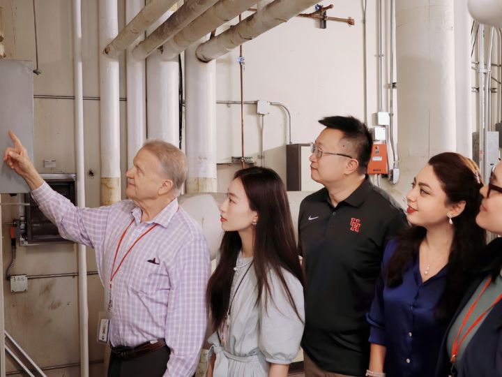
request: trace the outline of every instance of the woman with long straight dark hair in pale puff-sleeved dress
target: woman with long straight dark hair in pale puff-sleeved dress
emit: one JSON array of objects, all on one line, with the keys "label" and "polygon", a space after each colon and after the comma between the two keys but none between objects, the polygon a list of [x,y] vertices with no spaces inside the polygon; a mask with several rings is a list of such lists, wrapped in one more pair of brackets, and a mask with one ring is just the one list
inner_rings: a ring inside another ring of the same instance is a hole
[{"label": "woman with long straight dark hair in pale puff-sleeved dress", "polygon": [[207,300],[208,377],[287,376],[304,327],[303,278],[287,193],[266,168],[239,170],[220,206],[218,266]]}]

